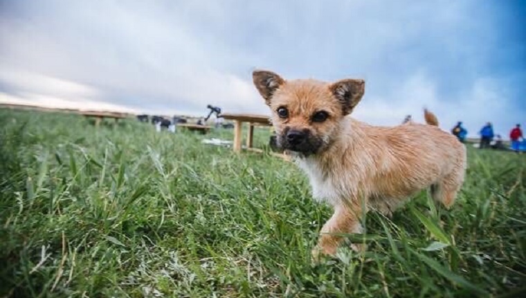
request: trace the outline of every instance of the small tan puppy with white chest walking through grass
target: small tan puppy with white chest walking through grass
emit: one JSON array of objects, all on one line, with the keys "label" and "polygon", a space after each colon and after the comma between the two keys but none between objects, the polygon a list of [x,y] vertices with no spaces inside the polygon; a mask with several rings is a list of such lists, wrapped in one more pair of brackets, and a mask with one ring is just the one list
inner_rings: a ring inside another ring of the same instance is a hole
[{"label": "small tan puppy with white chest walking through grass", "polygon": [[343,238],[334,234],[361,233],[360,218],[368,209],[390,215],[427,188],[445,207],[455,202],[466,150],[435,126],[438,121],[427,110],[428,125],[372,126],[347,116],[364,94],[363,80],[284,80],[271,71],[254,71],[253,81],[272,110],[278,146],[307,173],[314,198],[334,207],[313,249],[315,258],[320,252],[336,254]]}]

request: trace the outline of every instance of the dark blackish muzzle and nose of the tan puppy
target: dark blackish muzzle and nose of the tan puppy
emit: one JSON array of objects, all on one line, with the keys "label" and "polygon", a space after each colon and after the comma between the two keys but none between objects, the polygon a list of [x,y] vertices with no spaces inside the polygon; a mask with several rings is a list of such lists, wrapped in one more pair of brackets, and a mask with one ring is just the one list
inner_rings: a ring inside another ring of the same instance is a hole
[{"label": "dark blackish muzzle and nose of the tan puppy", "polygon": [[314,155],[323,148],[323,139],[316,137],[309,130],[285,129],[278,135],[277,145],[282,150],[299,152],[302,155]]}]

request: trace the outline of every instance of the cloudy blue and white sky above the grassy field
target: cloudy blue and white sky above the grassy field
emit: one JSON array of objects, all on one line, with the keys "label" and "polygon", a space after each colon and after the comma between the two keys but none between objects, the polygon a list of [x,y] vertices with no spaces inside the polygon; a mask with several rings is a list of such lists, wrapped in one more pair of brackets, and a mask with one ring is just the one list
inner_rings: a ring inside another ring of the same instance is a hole
[{"label": "cloudy blue and white sky above the grassy field", "polygon": [[254,69],[365,80],[353,116],[526,125],[523,1],[0,0],[0,103],[270,114]]}]

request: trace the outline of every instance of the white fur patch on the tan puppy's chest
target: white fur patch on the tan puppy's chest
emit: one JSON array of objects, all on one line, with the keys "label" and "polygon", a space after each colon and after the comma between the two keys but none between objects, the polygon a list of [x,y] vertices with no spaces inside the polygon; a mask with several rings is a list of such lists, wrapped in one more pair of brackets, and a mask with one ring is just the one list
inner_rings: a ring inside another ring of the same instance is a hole
[{"label": "white fur patch on the tan puppy's chest", "polygon": [[311,184],[312,196],[318,201],[327,201],[330,204],[338,204],[341,200],[340,185],[334,181],[332,175],[323,175],[322,170],[314,161],[302,159],[298,166],[305,171]]}]

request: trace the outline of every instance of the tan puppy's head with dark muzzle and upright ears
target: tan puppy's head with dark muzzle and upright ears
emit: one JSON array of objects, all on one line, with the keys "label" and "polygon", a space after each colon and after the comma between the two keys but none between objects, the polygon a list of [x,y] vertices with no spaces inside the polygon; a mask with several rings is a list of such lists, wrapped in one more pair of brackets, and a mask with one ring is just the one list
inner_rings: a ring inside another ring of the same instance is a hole
[{"label": "tan puppy's head with dark muzzle and upright ears", "polygon": [[338,137],[343,118],[361,100],[365,82],[284,80],[271,71],[254,71],[254,85],[272,111],[278,146],[308,156]]}]

